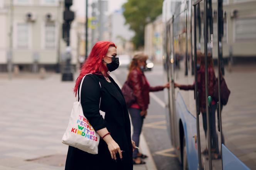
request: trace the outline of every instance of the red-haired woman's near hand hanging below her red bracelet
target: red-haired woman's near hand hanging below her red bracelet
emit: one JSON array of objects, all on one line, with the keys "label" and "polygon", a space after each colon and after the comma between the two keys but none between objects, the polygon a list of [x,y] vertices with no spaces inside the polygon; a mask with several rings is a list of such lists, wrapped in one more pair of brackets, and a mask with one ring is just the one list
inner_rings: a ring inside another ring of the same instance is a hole
[{"label": "red-haired woman's near hand hanging below her red bracelet", "polygon": [[115,142],[115,140],[113,140],[113,138],[110,135],[107,135],[106,137],[104,137],[104,140],[108,145],[108,150],[111,154],[111,158],[116,160],[116,153],[119,153],[120,158],[122,159],[123,156],[122,156],[121,149],[119,145]]}]

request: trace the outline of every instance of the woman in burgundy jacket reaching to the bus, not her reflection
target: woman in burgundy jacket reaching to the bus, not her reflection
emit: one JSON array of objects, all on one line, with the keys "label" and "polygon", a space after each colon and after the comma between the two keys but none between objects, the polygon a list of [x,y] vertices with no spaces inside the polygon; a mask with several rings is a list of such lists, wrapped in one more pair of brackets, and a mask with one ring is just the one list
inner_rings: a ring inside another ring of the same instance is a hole
[{"label": "woman in burgundy jacket reaching to the bus, not her reflection", "polygon": [[[133,124],[132,140],[135,142],[136,146],[139,145],[143,119],[147,115],[149,92],[157,92],[170,87],[169,83],[162,86],[150,87],[150,84],[143,73],[147,59],[148,56],[143,53],[135,55],[131,62],[130,72],[128,74],[128,85],[133,89],[133,95],[135,95],[136,98],[136,102],[128,108]],[[138,149],[135,149],[133,152],[133,164],[144,164],[145,162],[142,161],[141,158],[147,158],[147,155],[143,155],[138,152]]]}]

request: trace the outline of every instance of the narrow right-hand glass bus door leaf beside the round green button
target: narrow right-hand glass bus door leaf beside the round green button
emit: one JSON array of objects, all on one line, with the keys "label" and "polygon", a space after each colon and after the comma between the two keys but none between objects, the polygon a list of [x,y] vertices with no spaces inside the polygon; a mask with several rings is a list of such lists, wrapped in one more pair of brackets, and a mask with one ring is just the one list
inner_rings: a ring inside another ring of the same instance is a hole
[{"label": "narrow right-hand glass bus door leaf beside the round green button", "polygon": [[212,169],[222,169],[221,161],[221,126],[220,126],[220,110],[221,105],[218,100],[219,75],[220,65],[218,62],[222,58],[222,50],[219,45],[222,44],[223,37],[223,10],[222,0],[217,2],[206,0],[207,8],[205,16],[205,103],[206,103],[206,121],[208,140],[208,155],[209,166]]}]

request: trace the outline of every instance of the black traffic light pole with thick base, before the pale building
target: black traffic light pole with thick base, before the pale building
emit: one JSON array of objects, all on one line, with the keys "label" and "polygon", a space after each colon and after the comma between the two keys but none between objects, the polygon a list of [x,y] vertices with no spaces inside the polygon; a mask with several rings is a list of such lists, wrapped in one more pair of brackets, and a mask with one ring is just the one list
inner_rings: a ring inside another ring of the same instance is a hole
[{"label": "black traffic light pole with thick base, before the pale building", "polygon": [[62,24],[62,37],[67,43],[66,48],[66,65],[62,73],[62,81],[73,81],[73,73],[71,70],[71,47],[70,47],[70,27],[74,20],[74,12],[69,10],[72,0],[65,0],[65,11],[63,13],[64,23]]}]

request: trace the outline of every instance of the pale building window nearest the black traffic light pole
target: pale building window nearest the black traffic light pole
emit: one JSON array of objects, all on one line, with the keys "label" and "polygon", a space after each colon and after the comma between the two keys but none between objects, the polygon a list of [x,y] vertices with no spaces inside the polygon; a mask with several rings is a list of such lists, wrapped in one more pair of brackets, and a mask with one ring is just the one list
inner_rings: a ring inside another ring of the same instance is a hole
[{"label": "pale building window nearest the black traffic light pole", "polygon": [[45,48],[55,48],[56,27],[55,23],[45,23]]}]

